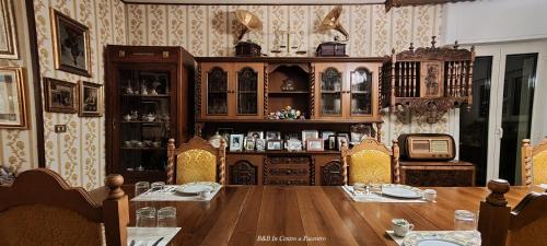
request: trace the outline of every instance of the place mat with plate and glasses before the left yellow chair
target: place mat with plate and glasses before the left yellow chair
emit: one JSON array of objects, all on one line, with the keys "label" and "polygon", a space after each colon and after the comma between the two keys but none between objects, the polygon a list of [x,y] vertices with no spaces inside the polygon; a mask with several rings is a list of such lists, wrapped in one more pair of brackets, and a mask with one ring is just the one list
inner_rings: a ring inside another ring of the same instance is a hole
[{"label": "place mat with plate and glasses before the left yellow chair", "polygon": [[212,181],[196,181],[184,185],[165,185],[153,183],[136,184],[136,197],[131,201],[210,201],[222,185]]}]

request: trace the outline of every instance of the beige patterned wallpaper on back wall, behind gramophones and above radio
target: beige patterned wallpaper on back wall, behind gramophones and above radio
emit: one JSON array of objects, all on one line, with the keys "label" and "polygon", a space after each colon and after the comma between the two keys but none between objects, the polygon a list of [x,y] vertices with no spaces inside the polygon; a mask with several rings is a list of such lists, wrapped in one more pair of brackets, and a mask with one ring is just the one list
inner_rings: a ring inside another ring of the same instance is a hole
[{"label": "beige patterned wallpaper on back wall, behind gramophones and above radio", "polygon": [[[241,31],[234,10],[244,9],[263,21],[263,32],[251,38],[259,43],[263,52],[276,47],[276,31],[289,31],[302,36],[302,47],[313,56],[321,42],[331,40],[335,32],[319,33],[318,22],[331,5],[158,5],[127,4],[129,45],[183,46],[195,56],[233,56],[234,42]],[[392,48],[407,49],[430,46],[431,36],[439,36],[444,5],[420,5],[392,9],[383,4],[345,5],[342,26],[350,34],[348,54],[352,57],[385,56]],[[438,38],[442,40],[442,38]],[[438,44],[440,45],[440,44]],[[287,56],[287,54],[281,54]],[[387,114],[382,129],[384,142],[403,132],[450,132],[458,139],[458,113],[451,110],[434,125],[420,117]],[[391,144],[391,143],[389,143]]]}]

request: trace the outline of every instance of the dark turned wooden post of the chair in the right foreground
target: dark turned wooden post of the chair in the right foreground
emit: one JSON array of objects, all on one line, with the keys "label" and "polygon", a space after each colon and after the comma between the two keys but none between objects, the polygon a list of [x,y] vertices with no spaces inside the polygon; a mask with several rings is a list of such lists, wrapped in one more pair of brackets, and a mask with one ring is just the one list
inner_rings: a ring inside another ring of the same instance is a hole
[{"label": "dark turned wooden post of the chair in the right foreground", "polygon": [[509,183],[503,179],[488,181],[491,194],[486,201],[480,202],[480,218],[478,231],[482,238],[482,246],[505,245],[510,223],[511,208],[508,207],[504,194],[510,189]]}]

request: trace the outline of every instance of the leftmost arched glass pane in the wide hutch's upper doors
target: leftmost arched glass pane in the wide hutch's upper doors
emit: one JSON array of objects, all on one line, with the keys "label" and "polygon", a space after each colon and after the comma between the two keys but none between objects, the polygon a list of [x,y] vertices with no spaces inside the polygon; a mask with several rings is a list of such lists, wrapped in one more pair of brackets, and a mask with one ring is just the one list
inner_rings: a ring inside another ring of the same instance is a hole
[{"label": "leftmost arched glass pane in the wide hutch's upper doors", "polygon": [[228,115],[228,72],[219,67],[207,72],[207,114]]}]

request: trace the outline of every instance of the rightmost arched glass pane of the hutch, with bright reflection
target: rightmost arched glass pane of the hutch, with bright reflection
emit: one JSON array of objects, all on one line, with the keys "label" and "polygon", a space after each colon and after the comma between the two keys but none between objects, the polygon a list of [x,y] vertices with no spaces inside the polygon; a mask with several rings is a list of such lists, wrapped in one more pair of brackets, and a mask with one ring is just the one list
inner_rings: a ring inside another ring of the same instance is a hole
[{"label": "rightmost arched glass pane of the hutch, with bright reflection", "polygon": [[372,114],[372,74],[364,68],[351,71],[351,115]]}]

